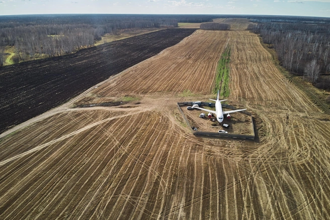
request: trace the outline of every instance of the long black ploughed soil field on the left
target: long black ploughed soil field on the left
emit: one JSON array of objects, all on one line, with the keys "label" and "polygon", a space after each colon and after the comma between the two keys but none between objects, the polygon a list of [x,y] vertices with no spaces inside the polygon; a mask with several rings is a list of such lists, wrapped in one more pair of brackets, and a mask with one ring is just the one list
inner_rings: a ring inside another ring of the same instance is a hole
[{"label": "long black ploughed soil field on the left", "polygon": [[179,43],[195,29],[167,29],[0,68],[0,133]]}]

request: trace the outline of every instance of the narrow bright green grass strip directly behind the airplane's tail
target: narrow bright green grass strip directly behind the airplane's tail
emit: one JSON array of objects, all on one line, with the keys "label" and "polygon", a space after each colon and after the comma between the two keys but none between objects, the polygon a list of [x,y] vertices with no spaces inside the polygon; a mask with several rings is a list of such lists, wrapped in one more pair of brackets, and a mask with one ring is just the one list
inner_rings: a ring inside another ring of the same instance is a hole
[{"label": "narrow bright green grass strip directly behind the airplane's tail", "polygon": [[221,97],[229,96],[229,62],[230,62],[230,47],[226,47],[218,61],[218,66],[215,75],[215,84],[213,93],[216,94],[220,90]]}]

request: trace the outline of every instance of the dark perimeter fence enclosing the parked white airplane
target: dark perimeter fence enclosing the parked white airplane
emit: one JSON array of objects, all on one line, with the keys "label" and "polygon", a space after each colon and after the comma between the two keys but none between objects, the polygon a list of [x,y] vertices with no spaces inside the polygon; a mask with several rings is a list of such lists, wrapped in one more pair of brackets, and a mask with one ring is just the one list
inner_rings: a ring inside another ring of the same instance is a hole
[{"label": "dark perimeter fence enclosing the parked white airplane", "polygon": [[[178,102],[177,103],[179,111],[182,114],[182,117],[184,118],[184,120],[186,121],[187,125],[189,126],[191,132],[194,135],[197,136],[204,136],[204,137],[209,137],[209,138],[213,138],[213,137],[224,137],[224,138],[241,138],[241,139],[250,139],[250,140],[254,140],[255,139],[255,125],[253,123],[253,117],[252,114],[250,112],[245,111],[241,111],[240,113],[247,115],[247,116],[251,116],[251,123],[252,123],[252,128],[253,128],[253,135],[240,135],[240,134],[230,134],[230,133],[218,133],[218,132],[203,132],[203,131],[194,131],[188,121],[188,119],[186,118],[185,114],[182,112],[182,109],[180,106],[184,106],[184,105],[193,105],[192,101],[185,101],[185,102]],[[201,102],[201,105],[205,105],[205,106],[215,106],[214,102]],[[235,106],[229,105],[229,104],[221,104],[223,107],[227,107],[230,108],[232,110],[236,110],[238,108],[236,108]]]}]

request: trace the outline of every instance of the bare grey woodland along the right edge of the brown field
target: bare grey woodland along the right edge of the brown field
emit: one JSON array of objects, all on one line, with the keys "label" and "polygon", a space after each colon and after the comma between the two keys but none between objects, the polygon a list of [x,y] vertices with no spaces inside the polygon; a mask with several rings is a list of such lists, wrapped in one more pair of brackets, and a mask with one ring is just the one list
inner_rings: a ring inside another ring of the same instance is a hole
[{"label": "bare grey woodland along the right edge of the brown field", "polygon": [[249,25],[274,47],[281,65],[316,87],[330,89],[330,25],[262,23]]}]

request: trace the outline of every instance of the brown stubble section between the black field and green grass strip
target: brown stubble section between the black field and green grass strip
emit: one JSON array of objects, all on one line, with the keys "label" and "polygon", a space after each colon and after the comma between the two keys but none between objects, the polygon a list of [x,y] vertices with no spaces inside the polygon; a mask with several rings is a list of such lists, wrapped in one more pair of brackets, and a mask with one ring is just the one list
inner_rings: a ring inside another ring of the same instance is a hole
[{"label": "brown stubble section between the black field and green grass strip", "polygon": [[129,68],[91,96],[107,98],[130,93],[192,92],[209,94],[228,32],[198,30],[179,44]]}]

